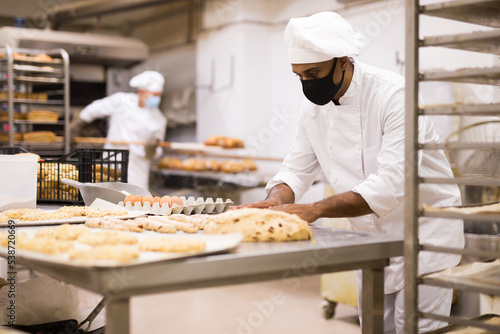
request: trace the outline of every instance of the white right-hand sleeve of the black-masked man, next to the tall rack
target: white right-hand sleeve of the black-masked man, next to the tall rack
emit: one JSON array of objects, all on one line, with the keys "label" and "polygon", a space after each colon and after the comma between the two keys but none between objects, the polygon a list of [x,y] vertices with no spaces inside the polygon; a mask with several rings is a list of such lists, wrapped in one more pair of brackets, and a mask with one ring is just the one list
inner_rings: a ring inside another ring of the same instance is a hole
[{"label": "white right-hand sleeve of the black-masked man, next to the tall rack", "polygon": [[[364,198],[379,217],[384,217],[395,210],[404,197],[404,104],[404,88],[388,98],[383,113],[382,145],[377,154],[377,172],[369,175],[364,182],[352,189]],[[418,163],[420,160],[419,157]]]}]

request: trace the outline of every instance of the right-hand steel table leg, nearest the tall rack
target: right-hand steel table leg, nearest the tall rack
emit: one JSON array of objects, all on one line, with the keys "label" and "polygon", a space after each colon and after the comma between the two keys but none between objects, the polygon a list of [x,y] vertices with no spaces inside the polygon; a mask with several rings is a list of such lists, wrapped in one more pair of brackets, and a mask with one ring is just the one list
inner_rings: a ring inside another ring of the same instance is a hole
[{"label": "right-hand steel table leg, nearest the tall rack", "polygon": [[362,333],[384,332],[384,268],[363,270]]}]

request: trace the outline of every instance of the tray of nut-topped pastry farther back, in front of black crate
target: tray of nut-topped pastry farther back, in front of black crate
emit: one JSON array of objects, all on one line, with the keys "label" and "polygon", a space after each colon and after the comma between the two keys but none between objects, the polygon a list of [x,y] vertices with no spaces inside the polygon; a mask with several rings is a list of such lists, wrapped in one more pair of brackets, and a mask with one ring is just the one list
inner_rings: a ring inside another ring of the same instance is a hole
[{"label": "tray of nut-topped pastry farther back, in front of black crate", "polygon": [[15,219],[16,225],[60,225],[64,223],[84,223],[89,218],[116,217],[130,219],[144,216],[141,211],[125,209],[104,210],[93,207],[64,206],[57,210],[11,209],[0,212],[0,227],[9,226],[9,220]]}]

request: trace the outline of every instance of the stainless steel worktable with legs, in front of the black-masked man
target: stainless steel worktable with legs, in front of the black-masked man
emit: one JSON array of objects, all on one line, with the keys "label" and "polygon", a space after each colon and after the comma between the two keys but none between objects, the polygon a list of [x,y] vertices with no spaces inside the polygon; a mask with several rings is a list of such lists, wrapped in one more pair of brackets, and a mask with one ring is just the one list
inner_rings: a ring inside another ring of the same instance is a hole
[{"label": "stainless steel worktable with legs, in front of the black-masked man", "polygon": [[383,333],[383,269],[390,257],[403,255],[403,241],[329,227],[312,229],[313,241],[242,243],[232,253],[118,268],[47,265],[28,258],[17,263],[108,296],[107,334],[130,333],[124,319],[129,319],[130,297],[135,295],[362,269],[362,331]]}]

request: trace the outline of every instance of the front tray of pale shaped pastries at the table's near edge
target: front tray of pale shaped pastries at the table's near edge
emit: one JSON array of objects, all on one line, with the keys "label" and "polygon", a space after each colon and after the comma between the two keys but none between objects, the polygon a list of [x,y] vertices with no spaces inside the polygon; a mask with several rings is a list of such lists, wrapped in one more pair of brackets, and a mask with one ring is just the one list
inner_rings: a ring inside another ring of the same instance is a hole
[{"label": "front tray of pale shaped pastries at the table's near edge", "polygon": [[[230,251],[242,240],[238,233],[205,235],[90,228],[83,224],[24,227],[0,232],[0,256],[15,247],[16,259],[85,267],[118,267],[177,260]],[[22,262],[22,261],[21,261]],[[20,262],[20,263],[21,263]]]}]

